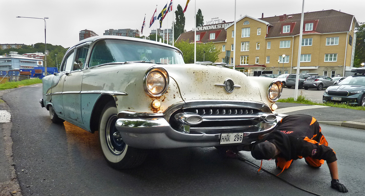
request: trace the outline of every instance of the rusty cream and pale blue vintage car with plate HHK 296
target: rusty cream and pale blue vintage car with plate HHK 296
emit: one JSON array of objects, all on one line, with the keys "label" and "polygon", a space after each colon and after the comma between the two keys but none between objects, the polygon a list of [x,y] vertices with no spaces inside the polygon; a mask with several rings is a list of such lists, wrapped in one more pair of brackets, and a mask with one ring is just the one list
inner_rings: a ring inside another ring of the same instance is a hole
[{"label": "rusty cream and pale blue vintage car with plate HHK 296", "polygon": [[142,164],[146,149],[250,144],[272,131],[280,81],[184,64],[167,44],[95,36],[71,47],[59,73],[43,78],[51,121],[99,132],[107,162]]}]

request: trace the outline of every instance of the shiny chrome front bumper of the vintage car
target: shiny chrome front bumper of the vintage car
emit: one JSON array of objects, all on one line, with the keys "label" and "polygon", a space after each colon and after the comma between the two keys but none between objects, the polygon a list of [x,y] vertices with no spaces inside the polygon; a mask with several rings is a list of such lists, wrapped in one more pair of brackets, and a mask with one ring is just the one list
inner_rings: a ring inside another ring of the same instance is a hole
[{"label": "shiny chrome front bumper of the vintage car", "polygon": [[[174,108],[174,111],[177,111],[178,107]],[[182,108],[182,106],[180,108]],[[126,142],[127,145],[135,148],[161,149],[211,147],[220,145],[221,133],[199,134],[195,132],[192,134],[184,132],[184,130],[177,130],[176,128],[173,128],[168,119],[170,119],[174,111],[160,115],[121,112],[118,114],[116,128],[119,130],[123,141]],[[264,114],[270,113],[266,110],[266,113]],[[271,113],[271,115],[273,114]],[[249,116],[252,117],[253,115]],[[259,122],[257,125],[242,126],[241,128],[234,127],[234,129],[229,129],[229,133],[243,133],[244,137],[242,143],[228,145],[250,144],[253,141],[257,141],[260,136],[271,132],[276,127],[277,122],[281,120],[281,117],[278,115],[275,117],[276,119],[272,122]]]}]

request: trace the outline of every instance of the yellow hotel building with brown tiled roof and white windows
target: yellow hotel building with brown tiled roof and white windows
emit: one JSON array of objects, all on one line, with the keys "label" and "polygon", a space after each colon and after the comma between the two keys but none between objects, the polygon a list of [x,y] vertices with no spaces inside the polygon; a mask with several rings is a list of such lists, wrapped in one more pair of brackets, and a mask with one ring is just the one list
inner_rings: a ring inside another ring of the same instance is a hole
[{"label": "yellow hotel building with brown tiled roof and white windows", "polygon": [[[353,15],[333,9],[304,13],[301,40],[300,13],[263,16],[256,19],[246,15],[237,21],[236,46],[232,48],[236,50],[235,69],[251,76],[263,70],[274,74],[296,73],[301,42],[301,73],[350,75],[355,52],[354,28],[358,27]],[[233,46],[234,25],[226,30],[226,45]]]}]

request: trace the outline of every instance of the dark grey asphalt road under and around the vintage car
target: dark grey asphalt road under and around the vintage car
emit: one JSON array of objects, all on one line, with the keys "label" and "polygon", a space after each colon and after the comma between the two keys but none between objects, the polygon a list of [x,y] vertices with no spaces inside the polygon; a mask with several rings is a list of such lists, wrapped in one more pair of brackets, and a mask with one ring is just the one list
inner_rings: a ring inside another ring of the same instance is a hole
[{"label": "dark grey asphalt road under and around the vintage car", "polygon": [[[22,192],[33,195],[311,195],[246,162],[227,158],[215,148],[153,150],[136,169],[115,170],[101,154],[97,134],[67,122],[53,124],[41,108],[41,85],[3,95],[12,113],[15,169]],[[286,89],[285,89],[286,90]],[[340,180],[347,195],[365,195],[365,131],[321,125],[338,158]],[[249,152],[242,152],[254,160]],[[280,173],[274,161],[263,168]],[[326,165],[313,169],[296,160],[281,175],[321,195],[344,195],[330,188]]]}]

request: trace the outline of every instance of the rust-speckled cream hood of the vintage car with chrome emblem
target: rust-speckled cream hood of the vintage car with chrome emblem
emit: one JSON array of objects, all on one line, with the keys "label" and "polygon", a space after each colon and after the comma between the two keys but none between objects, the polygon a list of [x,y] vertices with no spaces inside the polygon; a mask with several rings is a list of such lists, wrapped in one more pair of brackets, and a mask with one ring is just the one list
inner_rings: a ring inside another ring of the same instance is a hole
[{"label": "rust-speckled cream hood of the vintage car with chrome emblem", "polygon": [[[184,66],[184,69],[181,66]],[[263,102],[258,83],[250,81],[249,77],[239,71],[199,64],[184,64],[181,66],[164,65],[163,67],[168,71],[170,77],[176,81],[184,101],[212,99]],[[260,78],[263,81],[269,79],[264,77],[255,78]],[[241,87],[235,87],[232,93],[227,93],[224,87],[216,86],[216,84],[223,84],[226,79],[232,79],[234,85]],[[265,83],[271,83],[270,81],[264,82],[261,86]],[[269,85],[265,86],[267,86],[265,87],[265,91],[267,91]],[[267,94],[267,92],[261,93],[263,96]]]}]

